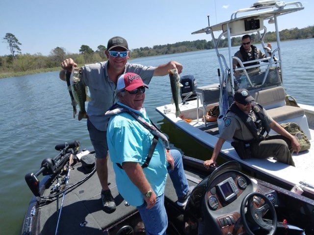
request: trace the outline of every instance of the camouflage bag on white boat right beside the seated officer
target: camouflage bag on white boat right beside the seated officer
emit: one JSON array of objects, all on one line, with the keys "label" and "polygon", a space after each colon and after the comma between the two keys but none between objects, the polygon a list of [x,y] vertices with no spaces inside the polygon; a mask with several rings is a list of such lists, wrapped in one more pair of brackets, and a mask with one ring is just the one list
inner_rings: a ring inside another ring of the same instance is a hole
[{"label": "camouflage bag on white boat right beside the seated officer", "polygon": [[300,126],[295,122],[281,123],[282,127],[286,129],[292,136],[295,136],[300,143],[300,152],[308,150],[311,147],[311,143],[308,137],[305,135]]}]

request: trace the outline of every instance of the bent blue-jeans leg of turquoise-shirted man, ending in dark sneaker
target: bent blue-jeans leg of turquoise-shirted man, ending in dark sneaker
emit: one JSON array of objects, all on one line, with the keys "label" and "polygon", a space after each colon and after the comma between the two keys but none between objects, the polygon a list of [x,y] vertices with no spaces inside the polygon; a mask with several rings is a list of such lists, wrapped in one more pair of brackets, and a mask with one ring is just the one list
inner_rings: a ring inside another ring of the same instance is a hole
[{"label": "bent blue-jeans leg of turquoise-shirted man, ending in dark sneaker", "polygon": [[184,174],[182,155],[176,149],[171,149],[170,154],[175,161],[175,167],[172,170],[170,165],[168,167],[168,173],[170,175],[173,187],[176,189],[176,194],[179,197],[184,197],[188,191],[188,184],[186,176]]}]

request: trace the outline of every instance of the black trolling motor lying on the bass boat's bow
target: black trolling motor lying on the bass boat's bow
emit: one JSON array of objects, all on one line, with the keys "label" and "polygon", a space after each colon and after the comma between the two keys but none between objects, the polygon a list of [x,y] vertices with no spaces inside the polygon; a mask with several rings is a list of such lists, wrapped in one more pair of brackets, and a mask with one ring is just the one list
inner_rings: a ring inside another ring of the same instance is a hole
[{"label": "black trolling motor lying on the bass boat's bow", "polygon": [[37,179],[37,176],[41,173],[45,176],[52,175],[58,172],[69,160],[69,157],[71,155],[71,151],[69,150],[78,147],[79,141],[74,141],[70,143],[65,142],[63,144],[55,145],[55,150],[60,151],[60,153],[54,158],[44,159],[41,163],[39,171],[37,171],[36,173],[28,173],[25,175],[25,181],[35,196],[40,196],[39,180]]}]

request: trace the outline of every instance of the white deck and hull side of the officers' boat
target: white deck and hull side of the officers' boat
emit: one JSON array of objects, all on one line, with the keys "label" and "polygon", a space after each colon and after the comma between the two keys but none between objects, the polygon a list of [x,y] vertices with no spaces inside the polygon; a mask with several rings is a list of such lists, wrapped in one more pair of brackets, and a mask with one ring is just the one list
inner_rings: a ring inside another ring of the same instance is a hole
[{"label": "white deck and hull side of the officers' boat", "polygon": [[[305,114],[308,119],[309,129],[307,129],[307,133],[311,136],[311,148],[309,150],[300,152],[298,154],[294,153],[292,155],[296,167],[276,162],[273,159],[242,160],[238,157],[235,149],[228,141],[223,144],[221,149],[221,156],[223,156],[225,161],[238,161],[242,167],[244,167],[246,170],[249,170],[254,176],[267,179],[271,183],[278,184],[279,186],[287,188],[288,190],[290,190],[294,185],[300,184],[301,181],[305,182],[306,185],[303,185],[306,186],[304,188],[304,194],[310,198],[314,198],[314,178],[312,172],[312,169],[314,168],[314,108],[312,106],[303,104],[300,104],[300,107],[305,110]],[[199,118],[197,120],[195,118],[197,117],[197,102],[195,100],[189,101],[185,105],[180,105],[183,119],[181,117],[175,116],[174,105],[168,104],[156,108],[157,112],[159,112],[164,118],[169,120],[187,135],[200,142],[202,145],[207,146],[209,150],[212,151],[215,143],[217,142],[217,138],[219,137],[217,128],[219,124],[218,122],[207,122],[207,125],[205,125],[204,121],[202,120],[204,115],[203,107],[200,104],[198,105],[198,109]],[[285,122],[289,121],[293,120],[288,120]],[[272,135],[275,133],[270,134]]]}]

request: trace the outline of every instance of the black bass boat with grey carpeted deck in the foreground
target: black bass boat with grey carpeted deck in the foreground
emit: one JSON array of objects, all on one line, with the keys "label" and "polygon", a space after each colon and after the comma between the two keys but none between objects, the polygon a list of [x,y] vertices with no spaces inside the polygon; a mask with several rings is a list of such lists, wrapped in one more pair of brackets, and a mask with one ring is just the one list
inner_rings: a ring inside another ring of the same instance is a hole
[{"label": "black bass boat with grey carpeted deck in the foreground", "polygon": [[[136,208],[119,194],[109,160],[108,185],[117,208],[106,213],[94,174],[94,151],[81,148],[78,141],[55,149],[54,158],[44,159],[36,173],[25,176],[34,196],[21,235],[146,234]],[[200,170],[203,163],[183,156],[188,184],[194,187],[185,207],[177,205],[175,189],[167,179],[168,235],[313,234],[314,200],[248,177],[235,161]]]}]

